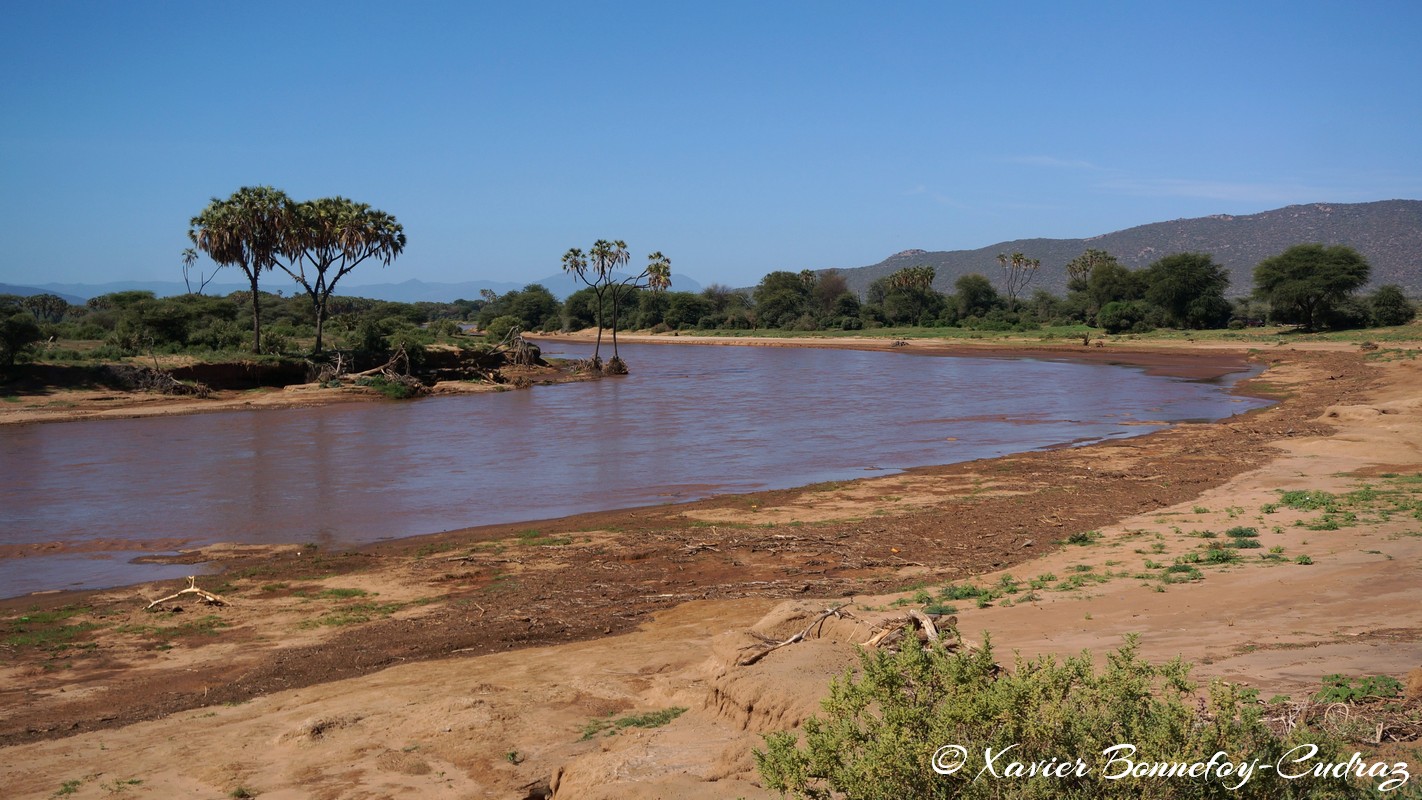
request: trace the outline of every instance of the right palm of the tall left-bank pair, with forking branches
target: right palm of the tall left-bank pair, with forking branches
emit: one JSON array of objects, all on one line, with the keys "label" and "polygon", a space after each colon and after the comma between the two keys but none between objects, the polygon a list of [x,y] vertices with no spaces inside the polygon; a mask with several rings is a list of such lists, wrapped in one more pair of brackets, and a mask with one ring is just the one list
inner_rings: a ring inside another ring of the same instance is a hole
[{"label": "right palm of the tall left-bank pair, with forking branches", "polygon": [[405,249],[405,229],[395,217],[346,198],[321,198],[292,209],[284,234],[286,274],[306,290],[316,315],[314,354],[321,352],[327,304],[336,283],[363,261],[381,266]]}]

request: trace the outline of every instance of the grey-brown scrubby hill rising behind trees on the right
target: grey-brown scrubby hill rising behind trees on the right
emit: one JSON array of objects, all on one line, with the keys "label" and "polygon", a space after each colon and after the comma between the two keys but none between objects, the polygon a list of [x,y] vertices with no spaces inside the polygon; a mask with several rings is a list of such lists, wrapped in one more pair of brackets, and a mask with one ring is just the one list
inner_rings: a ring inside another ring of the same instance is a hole
[{"label": "grey-brown scrubby hill rising behind trees on the right", "polygon": [[1091,239],[1018,239],[977,250],[904,250],[867,267],[840,269],[849,287],[862,293],[872,281],[903,267],[930,264],[933,284],[953,291],[968,273],[998,277],[998,253],[1022,253],[1042,266],[1027,291],[1066,290],[1066,261],[1088,247],[1106,250],[1128,267],[1145,267],[1172,253],[1210,253],[1230,271],[1230,296],[1253,290],[1254,266],[1294,244],[1347,244],[1372,264],[1369,286],[1395,283],[1422,296],[1422,200],[1376,203],[1311,203],[1247,216],[1216,215],[1128,227]]}]

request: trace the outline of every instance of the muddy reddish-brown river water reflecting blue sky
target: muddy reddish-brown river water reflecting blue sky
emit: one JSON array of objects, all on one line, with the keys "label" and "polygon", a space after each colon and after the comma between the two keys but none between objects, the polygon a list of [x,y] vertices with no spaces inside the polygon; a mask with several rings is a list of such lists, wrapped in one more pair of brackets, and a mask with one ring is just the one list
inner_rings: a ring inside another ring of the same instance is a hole
[{"label": "muddy reddish-brown river water reflecting blue sky", "polygon": [[178,547],[341,547],[1133,436],[1263,405],[1227,394],[1243,368],[1192,381],[883,351],[621,351],[626,378],[530,391],[3,428],[0,597],[193,573],[131,563]]}]

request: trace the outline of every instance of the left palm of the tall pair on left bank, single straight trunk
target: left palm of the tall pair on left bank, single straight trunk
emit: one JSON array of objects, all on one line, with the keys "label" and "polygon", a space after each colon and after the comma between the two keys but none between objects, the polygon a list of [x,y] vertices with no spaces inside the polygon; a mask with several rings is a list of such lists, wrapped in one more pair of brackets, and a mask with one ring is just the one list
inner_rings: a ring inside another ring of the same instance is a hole
[{"label": "left palm of the tall pair on left bank, single straight trunk", "polygon": [[252,284],[252,352],[262,352],[262,296],[257,281],[286,247],[292,199],[272,186],[243,186],[213,198],[188,223],[188,239],[219,267],[237,267]]}]

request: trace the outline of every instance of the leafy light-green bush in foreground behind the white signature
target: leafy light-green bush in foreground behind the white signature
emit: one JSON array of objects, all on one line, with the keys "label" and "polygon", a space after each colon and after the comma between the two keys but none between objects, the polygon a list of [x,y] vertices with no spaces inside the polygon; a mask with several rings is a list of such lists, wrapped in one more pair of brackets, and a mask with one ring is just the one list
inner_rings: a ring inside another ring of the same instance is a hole
[{"label": "leafy light-green bush in foreground behind the white signature", "polygon": [[[1243,783],[1237,774],[1119,777],[1122,764],[1112,757],[1129,756],[1136,764],[1207,763],[1224,753],[1233,763],[1277,764],[1293,747],[1311,743],[1318,753],[1310,764],[1348,760],[1342,743],[1327,735],[1303,726],[1276,735],[1253,691],[1216,681],[1202,708],[1189,672],[1179,659],[1160,666],[1139,659],[1133,637],[1106,655],[1102,669],[1084,652],[1061,662],[1018,658],[1004,672],[985,637],[977,652],[948,654],[939,645],[863,652],[859,678],[848,672],[835,681],[823,716],[805,722],[803,745],[793,733],[772,733],[765,750],[755,753],[757,767],[769,789],[803,799],[1369,796],[1372,789],[1361,782],[1281,780],[1274,770],[1256,770]],[[950,745],[964,755],[947,752]],[[1118,745],[1136,750],[1106,752]],[[994,772],[984,772],[988,749],[998,753]],[[1052,759],[1081,759],[1085,769],[1062,777],[1007,772],[1008,762]],[[961,767],[950,774],[934,770],[936,763],[950,762]]]}]

